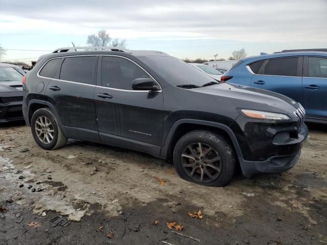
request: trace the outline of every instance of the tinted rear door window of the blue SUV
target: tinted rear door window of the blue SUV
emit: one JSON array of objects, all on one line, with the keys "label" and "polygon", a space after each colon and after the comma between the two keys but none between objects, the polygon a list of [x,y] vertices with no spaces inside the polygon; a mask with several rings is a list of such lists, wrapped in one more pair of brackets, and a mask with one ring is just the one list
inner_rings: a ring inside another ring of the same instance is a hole
[{"label": "tinted rear door window of the blue SUV", "polygon": [[265,75],[296,77],[297,57],[273,59],[265,67]]}]

